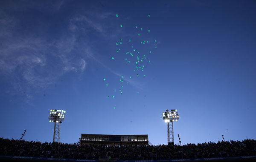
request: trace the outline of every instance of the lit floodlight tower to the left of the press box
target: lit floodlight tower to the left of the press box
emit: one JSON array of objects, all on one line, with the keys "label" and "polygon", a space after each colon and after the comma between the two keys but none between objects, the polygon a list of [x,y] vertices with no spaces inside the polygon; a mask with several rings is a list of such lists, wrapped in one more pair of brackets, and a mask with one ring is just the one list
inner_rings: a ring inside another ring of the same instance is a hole
[{"label": "lit floodlight tower to the left of the press box", "polygon": [[64,110],[50,110],[49,122],[54,122],[53,142],[60,142],[61,136],[61,122],[64,120],[66,111]]}]

